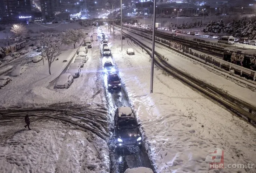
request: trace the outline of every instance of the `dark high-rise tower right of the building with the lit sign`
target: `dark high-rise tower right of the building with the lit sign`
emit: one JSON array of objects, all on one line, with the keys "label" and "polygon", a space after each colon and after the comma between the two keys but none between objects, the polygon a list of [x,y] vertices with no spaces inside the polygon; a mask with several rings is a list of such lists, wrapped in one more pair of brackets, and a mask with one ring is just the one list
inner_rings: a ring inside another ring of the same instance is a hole
[{"label": "dark high-rise tower right of the building with the lit sign", "polygon": [[41,0],[42,18],[50,20],[55,16],[56,0]]}]

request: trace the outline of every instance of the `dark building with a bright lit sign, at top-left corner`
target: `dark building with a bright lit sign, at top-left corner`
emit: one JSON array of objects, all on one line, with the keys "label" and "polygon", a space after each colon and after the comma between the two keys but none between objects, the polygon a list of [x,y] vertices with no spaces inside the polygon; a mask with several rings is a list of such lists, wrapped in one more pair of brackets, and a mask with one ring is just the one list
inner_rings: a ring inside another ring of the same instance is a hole
[{"label": "dark building with a bright lit sign, at top-left corner", "polygon": [[31,19],[30,0],[0,0],[1,23],[26,22]]}]

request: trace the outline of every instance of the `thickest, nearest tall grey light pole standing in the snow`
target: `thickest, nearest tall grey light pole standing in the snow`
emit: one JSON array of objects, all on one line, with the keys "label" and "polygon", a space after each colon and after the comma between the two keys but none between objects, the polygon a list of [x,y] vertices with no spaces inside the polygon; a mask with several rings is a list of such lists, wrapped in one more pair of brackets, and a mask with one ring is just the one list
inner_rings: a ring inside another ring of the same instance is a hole
[{"label": "thickest, nearest tall grey light pole standing in the snow", "polygon": [[153,18],[153,37],[151,54],[151,75],[150,75],[150,93],[153,93],[154,60],[155,60],[155,29],[156,29],[156,0],[154,0],[154,18]]}]

